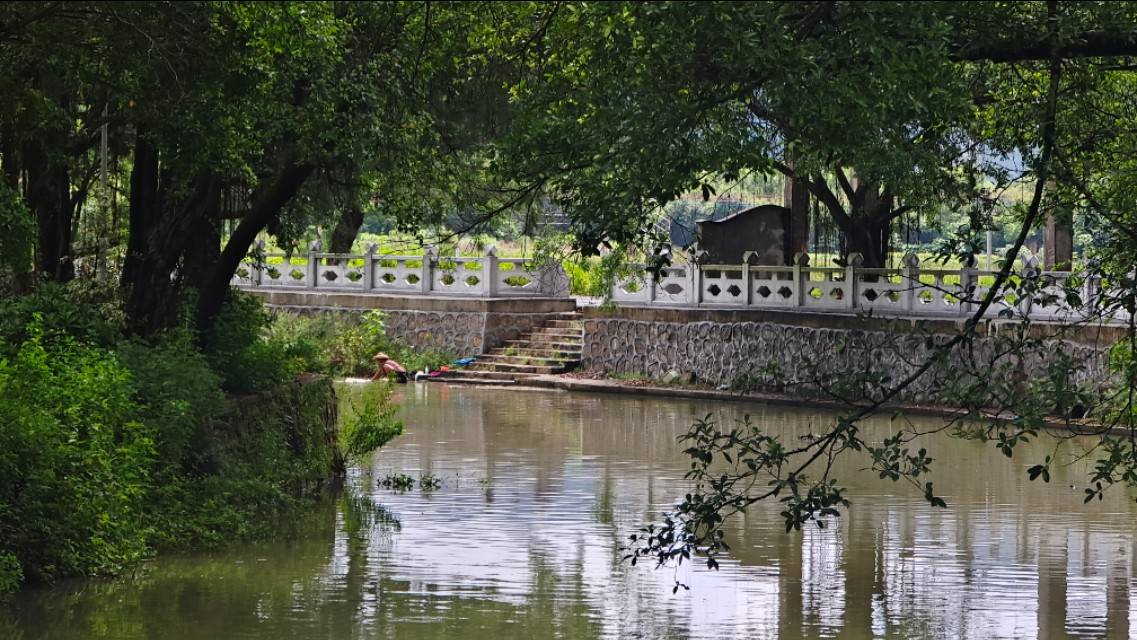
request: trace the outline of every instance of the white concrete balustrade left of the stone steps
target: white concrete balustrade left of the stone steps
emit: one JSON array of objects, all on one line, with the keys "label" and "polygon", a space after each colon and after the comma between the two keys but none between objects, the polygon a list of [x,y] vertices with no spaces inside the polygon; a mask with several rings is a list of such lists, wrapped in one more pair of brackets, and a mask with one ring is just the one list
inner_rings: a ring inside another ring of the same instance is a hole
[{"label": "white concrete balustrade left of the stone steps", "polygon": [[313,242],[304,256],[266,253],[264,244],[241,263],[233,285],[254,289],[316,289],[401,296],[482,298],[567,297],[568,279],[559,265],[537,266],[524,258],[499,258],[490,248],[480,257],[388,256],[375,244],[356,253],[327,253]]}]

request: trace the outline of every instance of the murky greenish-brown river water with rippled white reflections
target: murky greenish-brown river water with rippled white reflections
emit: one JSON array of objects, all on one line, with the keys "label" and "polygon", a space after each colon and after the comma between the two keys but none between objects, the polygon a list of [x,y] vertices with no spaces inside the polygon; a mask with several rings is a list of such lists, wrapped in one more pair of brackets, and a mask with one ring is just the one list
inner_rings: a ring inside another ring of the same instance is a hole
[{"label": "murky greenish-brown river water with rippled white reflections", "polygon": [[[749,413],[794,434],[824,414],[688,400],[408,385],[409,432],[287,541],[164,557],[139,575],[32,589],[0,637],[86,638],[1126,638],[1137,635],[1135,509],[1081,505],[1085,467],[1026,482],[936,439],[947,510],[852,467],[837,527],[737,522],[719,572],[622,564],[621,546],[684,490],[674,438]],[[887,419],[870,429],[882,438]],[[443,477],[397,493],[390,472]],[[672,595],[675,579],[690,591]]]}]

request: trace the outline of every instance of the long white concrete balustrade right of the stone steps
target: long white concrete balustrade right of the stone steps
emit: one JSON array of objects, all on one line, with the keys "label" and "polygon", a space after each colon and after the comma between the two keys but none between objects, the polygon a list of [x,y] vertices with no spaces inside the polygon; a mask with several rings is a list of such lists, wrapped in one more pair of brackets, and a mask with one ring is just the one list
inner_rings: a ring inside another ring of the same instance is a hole
[{"label": "long white concrete balustrade right of the stone steps", "polygon": [[[613,284],[612,300],[622,305],[965,316],[978,308],[997,275],[974,267],[926,268],[913,253],[904,257],[899,268],[865,268],[855,253],[847,267],[814,267],[804,253],[797,255],[794,263],[688,264],[664,267],[658,279],[642,267],[633,267],[632,275]],[[1084,319],[1089,317],[1101,288],[1093,277],[1041,272],[1032,256],[1022,260],[1011,282],[1014,286],[1004,290],[987,310],[988,317]],[[1077,305],[1067,300],[1069,290],[1077,293]],[[1122,310],[1112,317],[1126,319],[1128,315]]]}]

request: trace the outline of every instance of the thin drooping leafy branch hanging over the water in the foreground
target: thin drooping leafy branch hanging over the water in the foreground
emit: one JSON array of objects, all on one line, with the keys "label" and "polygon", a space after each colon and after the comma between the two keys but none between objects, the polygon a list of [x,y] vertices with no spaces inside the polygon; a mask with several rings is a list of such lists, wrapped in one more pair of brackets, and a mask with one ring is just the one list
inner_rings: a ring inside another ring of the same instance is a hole
[{"label": "thin drooping leafy branch hanging over the water in the foreground", "polygon": [[[1054,35],[1052,34],[1052,38]],[[1055,115],[1062,66],[1055,58],[1051,60],[1044,113],[1040,118],[1038,142],[1040,152],[1035,165],[1035,189],[1026,219],[1018,238],[1007,251],[995,281],[978,304],[973,314],[964,323],[962,331],[943,343],[932,343],[930,355],[914,371],[895,384],[885,384],[872,393],[871,400],[837,419],[823,434],[811,437],[800,446],[787,444],[779,435],[765,432],[749,419],[730,431],[719,430],[709,416],[696,422],[690,431],[680,438],[688,444],[686,454],[691,458],[687,477],[694,480],[694,488],[677,505],[674,512],[664,514],[658,526],[652,524],[630,537],[630,552],[625,558],[634,564],[641,557],[652,557],[657,566],[690,562],[696,554],[706,558],[709,568],[716,568],[716,556],[729,550],[723,523],[747,507],[777,498],[782,504],[781,515],[786,530],[799,530],[814,522],[824,526],[827,518],[840,515],[840,507],[848,507],[845,489],[831,477],[833,462],[847,451],[868,455],[871,466],[881,477],[894,481],[904,479],[923,491],[923,498],[932,507],[945,508],[946,500],[936,496],[931,482],[920,480],[932,463],[926,449],[914,454],[906,444],[922,433],[902,431],[879,446],[866,442],[860,434],[857,424],[873,415],[883,405],[894,401],[935,366],[941,365],[947,356],[961,347],[973,343],[980,322],[987,310],[1006,290],[1014,286],[1012,267],[1026,240],[1039,218],[1046,184],[1051,177],[1051,163],[1057,140]],[[1020,388],[1031,384],[1023,381]],[[981,390],[984,387],[976,385]],[[972,399],[965,406],[986,406]],[[1002,412],[1001,412],[1002,413]],[[1005,424],[997,413],[990,424],[997,433],[1004,454],[1011,455],[1014,446],[1026,441],[1036,430],[1026,424],[1010,438],[1002,431]],[[966,417],[981,414],[966,412]],[[949,423],[952,424],[952,423]],[[1011,421],[1012,426],[1015,421]],[[716,458],[722,465],[715,466]],[[677,589],[679,583],[677,582]]]}]

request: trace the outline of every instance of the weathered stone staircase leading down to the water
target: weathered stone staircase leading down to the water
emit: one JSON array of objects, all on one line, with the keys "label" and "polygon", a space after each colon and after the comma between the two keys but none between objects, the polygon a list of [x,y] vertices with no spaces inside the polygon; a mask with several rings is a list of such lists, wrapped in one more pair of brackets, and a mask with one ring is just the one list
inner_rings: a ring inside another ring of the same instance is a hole
[{"label": "weathered stone staircase leading down to the water", "polygon": [[526,377],[572,371],[580,365],[584,324],[579,314],[556,314],[504,347],[478,356],[470,366],[435,379],[442,382],[517,384]]}]

